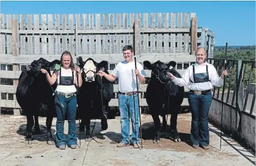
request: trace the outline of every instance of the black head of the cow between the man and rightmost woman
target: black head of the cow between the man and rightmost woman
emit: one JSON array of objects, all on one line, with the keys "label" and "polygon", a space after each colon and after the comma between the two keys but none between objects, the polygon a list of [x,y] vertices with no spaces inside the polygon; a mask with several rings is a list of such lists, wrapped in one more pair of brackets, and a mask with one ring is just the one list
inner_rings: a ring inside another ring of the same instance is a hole
[{"label": "black head of the cow between the man and rightmost woman", "polygon": [[176,62],[170,61],[169,63],[163,63],[160,60],[155,63],[150,63],[148,60],[144,61],[144,66],[152,71],[152,78],[157,78],[162,84],[170,81],[170,77],[167,72],[170,72],[170,67],[174,68]]}]

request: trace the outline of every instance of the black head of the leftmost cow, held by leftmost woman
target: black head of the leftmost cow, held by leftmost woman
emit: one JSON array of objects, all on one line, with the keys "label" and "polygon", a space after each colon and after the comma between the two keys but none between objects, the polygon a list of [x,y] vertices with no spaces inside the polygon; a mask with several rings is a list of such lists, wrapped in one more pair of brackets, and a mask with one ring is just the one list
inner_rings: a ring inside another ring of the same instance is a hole
[{"label": "black head of the leftmost cow, held by leftmost woman", "polygon": [[40,59],[34,60],[31,65],[27,66],[26,72],[37,76],[41,72],[40,70],[42,68],[49,72],[49,68],[54,67],[56,64],[60,64],[60,60],[53,60],[53,62],[49,62],[48,60],[40,57]]}]

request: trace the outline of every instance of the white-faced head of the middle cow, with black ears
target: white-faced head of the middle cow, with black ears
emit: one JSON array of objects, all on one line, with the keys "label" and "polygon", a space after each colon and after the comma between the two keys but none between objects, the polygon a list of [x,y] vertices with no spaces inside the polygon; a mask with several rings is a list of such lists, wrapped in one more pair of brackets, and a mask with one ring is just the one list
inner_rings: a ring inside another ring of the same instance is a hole
[{"label": "white-faced head of the middle cow, with black ears", "polygon": [[82,70],[82,76],[86,82],[95,81],[98,71],[104,71],[108,67],[108,62],[103,60],[100,63],[95,62],[95,60],[89,58],[86,61],[82,61],[82,57],[78,58],[79,67]]}]

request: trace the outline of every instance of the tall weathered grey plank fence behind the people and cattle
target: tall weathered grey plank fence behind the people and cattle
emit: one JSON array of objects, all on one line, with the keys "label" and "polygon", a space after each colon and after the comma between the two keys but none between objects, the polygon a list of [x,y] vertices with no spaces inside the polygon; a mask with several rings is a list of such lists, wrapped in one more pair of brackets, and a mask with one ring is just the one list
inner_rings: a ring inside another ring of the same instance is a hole
[{"label": "tall weathered grey plank fence behind the people and cattle", "polygon": [[[125,45],[133,46],[140,63],[175,60],[182,74],[194,62],[197,46],[207,48],[208,56],[213,54],[214,33],[197,27],[196,13],[68,14],[61,18],[59,14],[0,14],[1,109],[20,109],[15,98],[18,78],[33,60],[60,59],[69,50],[74,58],[107,60],[111,71],[123,60]],[[150,78],[150,71],[146,73]],[[147,106],[146,88],[147,84],[140,85],[141,106]],[[117,84],[114,91],[110,106],[118,106]],[[183,104],[188,105],[186,99]]]}]

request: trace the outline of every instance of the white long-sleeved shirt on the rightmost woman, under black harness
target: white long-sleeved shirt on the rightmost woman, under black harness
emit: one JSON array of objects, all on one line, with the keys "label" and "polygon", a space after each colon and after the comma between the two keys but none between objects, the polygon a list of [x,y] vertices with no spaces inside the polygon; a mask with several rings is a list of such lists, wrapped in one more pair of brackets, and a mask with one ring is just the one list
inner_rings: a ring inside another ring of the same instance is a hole
[{"label": "white long-sleeved shirt on the rightmost woman, under black harness", "polygon": [[[180,87],[183,87],[184,85],[188,84],[188,89],[189,90],[211,90],[213,86],[216,87],[221,87],[221,85],[224,83],[224,80],[218,76],[218,73],[216,71],[216,68],[211,65],[210,63],[203,63],[203,65],[197,65],[196,63],[193,64],[195,65],[195,74],[196,73],[206,73],[206,66],[208,65],[208,73],[209,73],[209,80],[210,82],[200,82],[200,83],[194,83],[194,78],[193,78],[193,66],[190,65],[183,76],[181,78],[175,78],[173,81],[176,85],[179,85]],[[190,81],[193,81],[191,82]]]}]

